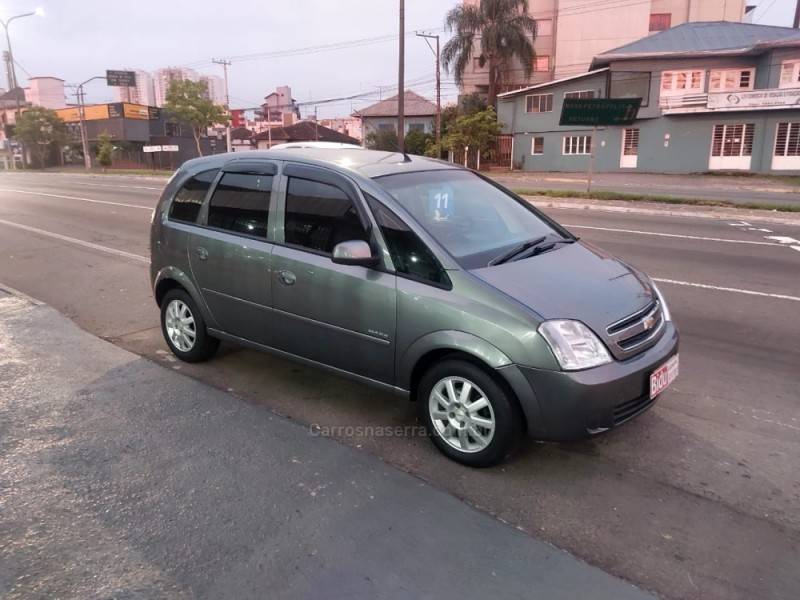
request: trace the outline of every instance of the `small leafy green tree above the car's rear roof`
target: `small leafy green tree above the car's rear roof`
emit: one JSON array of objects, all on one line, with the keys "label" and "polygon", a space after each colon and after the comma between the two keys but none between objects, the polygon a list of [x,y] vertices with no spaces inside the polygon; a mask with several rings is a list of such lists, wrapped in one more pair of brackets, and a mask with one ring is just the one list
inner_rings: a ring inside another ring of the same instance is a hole
[{"label": "small leafy green tree above the car's rear roof", "polygon": [[209,99],[205,81],[185,79],[170,82],[164,110],[173,122],[191,128],[199,156],[203,156],[200,148],[200,136],[203,132],[212,125],[228,122],[225,109]]}]

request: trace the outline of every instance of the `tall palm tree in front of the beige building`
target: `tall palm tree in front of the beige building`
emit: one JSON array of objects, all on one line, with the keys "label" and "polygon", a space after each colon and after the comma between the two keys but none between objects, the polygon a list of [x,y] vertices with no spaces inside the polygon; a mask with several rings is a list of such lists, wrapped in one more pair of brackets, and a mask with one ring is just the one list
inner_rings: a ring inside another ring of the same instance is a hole
[{"label": "tall palm tree in front of the beige building", "polygon": [[[489,66],[489,105],[497,98],[509,63],[517,57],[525,77],[533,71],[533,37],[536,21],[528,16],[528,0],[480,0],[459,4],[447,13],[445,28],[455,32],[442,50],[445,71],[452,70],[456,83],[462,84],[464,71],[476,52],[480,66]],[[476,39],[480,48],[476,47]]]}]

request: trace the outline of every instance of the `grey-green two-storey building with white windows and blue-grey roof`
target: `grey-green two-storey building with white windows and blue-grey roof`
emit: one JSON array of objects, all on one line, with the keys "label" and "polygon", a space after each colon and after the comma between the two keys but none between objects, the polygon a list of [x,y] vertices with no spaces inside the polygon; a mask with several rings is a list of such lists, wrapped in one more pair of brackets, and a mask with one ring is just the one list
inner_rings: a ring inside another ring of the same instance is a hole
[{"label": "grey-green two-storey building with white windows and blue-grey roof", "polygon": [[[641,98],[626,127],[559,125],[565,98]],[[528,171],[800,174],[800,30],[685,23],[596,56],[590,70],[498,97]]]}]

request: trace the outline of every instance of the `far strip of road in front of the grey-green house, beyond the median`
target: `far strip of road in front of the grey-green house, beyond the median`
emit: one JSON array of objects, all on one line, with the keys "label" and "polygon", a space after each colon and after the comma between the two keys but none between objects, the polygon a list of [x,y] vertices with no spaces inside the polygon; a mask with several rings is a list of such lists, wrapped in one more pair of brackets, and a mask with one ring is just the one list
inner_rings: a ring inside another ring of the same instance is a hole
[{"label": "far strip of road in front of the grey-green house, beyond the median", "polygon": [[[586,191],[585,173],[492,174],[511,188]],[[800,183],[780,178],[726,175],[663,175],[655,173],[595,173],[592,190],[726,200],[734,203],[800,206]]]}]

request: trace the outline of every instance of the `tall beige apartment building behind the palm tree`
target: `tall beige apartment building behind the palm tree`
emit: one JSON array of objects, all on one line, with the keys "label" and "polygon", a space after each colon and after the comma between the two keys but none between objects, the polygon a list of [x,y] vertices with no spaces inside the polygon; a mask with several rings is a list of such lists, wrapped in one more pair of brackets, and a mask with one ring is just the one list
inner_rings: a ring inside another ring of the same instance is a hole
[{"label": "tall beige apartment building behind the palm tree", "polygon": [[[610,48],[687,22],[741,22],[745,11],[745,0],[529,0],[528,12],[537,22],[533,71],[526,78],[520,63],[510,64],[502,89],[584,73],[596,55]],[[488,91],[488,69],[480,66],[479,53],[478,47],[461,94]]]}]

